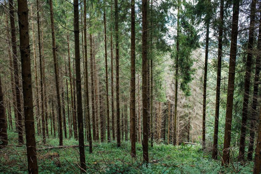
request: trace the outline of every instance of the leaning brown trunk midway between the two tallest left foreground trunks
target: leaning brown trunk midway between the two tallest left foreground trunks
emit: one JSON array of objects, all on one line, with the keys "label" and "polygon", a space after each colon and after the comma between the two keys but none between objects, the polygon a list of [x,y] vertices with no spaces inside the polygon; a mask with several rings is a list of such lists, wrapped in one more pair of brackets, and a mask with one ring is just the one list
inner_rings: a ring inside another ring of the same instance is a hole
[{"label": "leaning brown trunk midway between the two tallest left foreground trunks", "polygon": [[50,0],[50,18],[51,18],[51,29],[52,29],[52,47],[53,47],[53,56],[54,56],[55,84],[56,84],[56,94],[57,94],[57,104],[58,104],[59,146],[62,146],[62,110],[61,110],[58,64],[57,64],[57,57],[56,57],[56,46],[55,46],[55,35],[54,35],[53,0]]}]

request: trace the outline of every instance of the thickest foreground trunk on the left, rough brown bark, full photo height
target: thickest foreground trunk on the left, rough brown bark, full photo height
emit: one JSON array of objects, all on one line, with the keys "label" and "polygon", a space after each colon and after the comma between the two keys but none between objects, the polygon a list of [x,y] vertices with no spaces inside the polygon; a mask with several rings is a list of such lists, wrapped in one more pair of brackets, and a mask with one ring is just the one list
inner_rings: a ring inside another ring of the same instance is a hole
[{"label": "thickest foreground trunk on the left, rough brown bark, full photo height", "polygon": [[[25,123],[25,133],[26,133],[28,173],[38,174],[36,142],[34,137],[35,136],[34,105],[33,105],[32,74],[31,74],[31,62],[30,62],[30,41],[29,41],[27,0],[18,1],[18,21],[19,21],[19,35],[20,35],[22,88],[23,88],[24,114],[25,114],[24,123]],[[2,91],[2,89],[0,89],[0,91]]]}]

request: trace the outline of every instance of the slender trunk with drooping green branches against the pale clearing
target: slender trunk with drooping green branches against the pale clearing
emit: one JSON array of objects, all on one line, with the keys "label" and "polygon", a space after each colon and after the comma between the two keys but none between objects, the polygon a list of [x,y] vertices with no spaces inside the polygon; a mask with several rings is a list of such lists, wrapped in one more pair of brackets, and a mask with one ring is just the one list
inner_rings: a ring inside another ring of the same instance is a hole
[{"label": "slender trunk with drooping green branches against the pale clearing", "polygon": [[176,130],[177,130],[177,104],[178,104],[178,72],[179,72],[179,0],[178,0],[178,24],[177,24],[177,56],[176,56],[176,72],[175,72],[175,108],[174,108],[174,132],[173,145],[176,145]]}]

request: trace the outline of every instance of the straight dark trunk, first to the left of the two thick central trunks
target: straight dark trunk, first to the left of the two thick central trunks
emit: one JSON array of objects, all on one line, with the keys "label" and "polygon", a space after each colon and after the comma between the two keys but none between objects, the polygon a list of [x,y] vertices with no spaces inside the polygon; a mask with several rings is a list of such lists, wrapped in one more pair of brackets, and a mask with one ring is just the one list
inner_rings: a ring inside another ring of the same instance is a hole
[{"label": "straight dark trunk, first to the left of the two thick central trunks", "polygon": [[116,59],[116,118],[117,118],[117,147],[121,146],[120,129],[120,93],[119,93],[119,31],[118,31],[118,0],[115,0],[115,59]]}]

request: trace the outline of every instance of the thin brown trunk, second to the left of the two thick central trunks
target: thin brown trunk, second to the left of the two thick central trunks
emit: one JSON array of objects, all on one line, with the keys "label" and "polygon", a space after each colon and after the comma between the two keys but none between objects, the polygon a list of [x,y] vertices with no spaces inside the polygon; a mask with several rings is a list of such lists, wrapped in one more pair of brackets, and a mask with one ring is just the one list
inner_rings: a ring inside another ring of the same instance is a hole
[{"label": "thin brown trunk, second to the left of the two thick central trunks", "polygon": [[[112,4],[111,4],[112,11]],[[110,16],[112,21],[112,13]],[[114,127],[114,85],[113,85],[113,44],[112,44],[112,27],[110,28],[110,67],[111,67],[111,129],[112,129],[112,139],[115,140],[115,127]],[[109,120],[108,120],[109,121]],[[108,124],[110,125],[110,124]],[[109,129],[110,130],[110,126]],[[108,132],[109,135],[110,131]],[[109,140],[109,138],[108,138]]]}]

